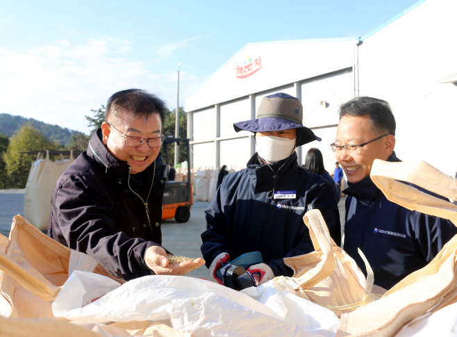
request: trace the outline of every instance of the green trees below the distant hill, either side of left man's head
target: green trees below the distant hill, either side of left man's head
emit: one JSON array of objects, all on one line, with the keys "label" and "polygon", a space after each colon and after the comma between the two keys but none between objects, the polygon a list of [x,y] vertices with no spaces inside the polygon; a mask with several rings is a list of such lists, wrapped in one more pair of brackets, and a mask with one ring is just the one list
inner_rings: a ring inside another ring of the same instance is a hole
[{"label": "green trees below the distant hill, either side of left man's head", "polygon": [[[25,188],[28,172],[32,162],[36,159],[36,155],[24,154],[28,151],[43,151],[43,150],[76,150],[85,151],[87,149],[92,133],[101,127],[101,123],[105,120],[105,107],[102,105],[98,110],[91,110],[93,116],[85,116],[88,120],[88,126],[91,128],[90,134],[74,132],[67,144],[63,144],[58,140],[50,139],[42,130],[33,124],[30,120],[26,120],[22,126],[8,136],[0,132],[0,189],[4,188]],[[6,114],[0,114],[6,115]],[[33,120],[35,121],[35,120]],[[165,124],[163,125],[163,133],[165,137],[174,137],[174,125],[176,121],[176,109],[167,110],[165,116]],[[39,121],[36,121],[39,122]],[[46,124],[40,122],[42,124]],[[49,125],[49,124],[48,124]],[[68,129],[66,129],[68,131]],[[183,108],[179,108],[179,138],[187,137],[187,114]],[[181,145],[179,151],[179,162],[186,160],[185,147]],[[164,152],[164,151],[163,151]],[[163,156],[165,154],[163,153]],[[172,163],[174,161],[174,145],[168,145],[167,158],[163,158],[164,162]],[[52,160],[52,159],[51,159]]]}]

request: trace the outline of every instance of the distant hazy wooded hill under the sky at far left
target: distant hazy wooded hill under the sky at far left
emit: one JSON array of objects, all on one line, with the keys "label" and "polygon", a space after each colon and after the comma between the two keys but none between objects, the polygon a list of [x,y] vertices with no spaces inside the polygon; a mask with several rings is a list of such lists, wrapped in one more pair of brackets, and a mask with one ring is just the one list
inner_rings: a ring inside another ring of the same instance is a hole
[{"label": "distant hazy wooded hill under the sky at far left", "polygon": [[21,126],[25,123],[30,123],[35,128],[39,129],[47,138],[55,140],[62,145],[69,145],[72,141],[72,135],[81,133],[75,130],[62,128],[58,125],[47,124],[34,120],[33,118],[26,118],[21,116],[13,116],[8,113],[0,113],[0,132],[4,135],[11,137]]}]

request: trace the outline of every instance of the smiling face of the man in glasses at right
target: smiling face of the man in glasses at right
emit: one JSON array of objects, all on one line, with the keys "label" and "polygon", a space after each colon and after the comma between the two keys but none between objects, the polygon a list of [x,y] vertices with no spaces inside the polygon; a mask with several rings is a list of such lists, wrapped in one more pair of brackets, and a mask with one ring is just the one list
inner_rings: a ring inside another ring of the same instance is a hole
[{"label": "smiling face of the man in glasses at right", "polygon": [[[351,116],[344,115],[336,131],[336,145],[360,145],[382,135],[372,129],[369,115]],[[360,147],[360,154],[351,156],[343,150],[335,154],[349,183],[357,183],[369,176],[374,159],[385,161],[394,151],[395,138],[393,135],[385,136],[374,142]]]}]

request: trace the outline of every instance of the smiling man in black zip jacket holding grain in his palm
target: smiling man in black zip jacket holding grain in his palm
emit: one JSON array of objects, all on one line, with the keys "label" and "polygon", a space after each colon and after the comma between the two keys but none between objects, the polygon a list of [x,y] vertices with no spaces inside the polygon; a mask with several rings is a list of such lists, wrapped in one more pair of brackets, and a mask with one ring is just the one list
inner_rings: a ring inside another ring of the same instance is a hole
[{"label": "smiling man in black zip jacket holding grain in his palm", "polygon": [[126,280],[185,274],[204,261],[170,265],[160,246],[165,178],[156,172],[165,103],[144,90],[116,92],[88,150],[60,176],[48,235]]}]

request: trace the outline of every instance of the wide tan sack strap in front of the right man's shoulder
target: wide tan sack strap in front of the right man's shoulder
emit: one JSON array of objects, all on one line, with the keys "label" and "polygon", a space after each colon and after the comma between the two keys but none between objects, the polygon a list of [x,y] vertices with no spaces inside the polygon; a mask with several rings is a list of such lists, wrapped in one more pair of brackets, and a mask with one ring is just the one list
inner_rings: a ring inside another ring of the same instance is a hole
[{"label": "wide tan sack strap in front of the right man's shoulder", "polygon": [[457,199],[457,179],[424,161],[391,163],[376,159],[370,173],[373,183],[385,197],[411,211],[451,220],[457,226],[457,206],[433,197],[400,181],[413,183],[443,197]]}]

